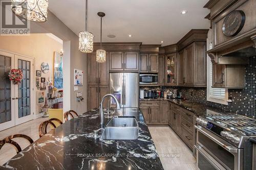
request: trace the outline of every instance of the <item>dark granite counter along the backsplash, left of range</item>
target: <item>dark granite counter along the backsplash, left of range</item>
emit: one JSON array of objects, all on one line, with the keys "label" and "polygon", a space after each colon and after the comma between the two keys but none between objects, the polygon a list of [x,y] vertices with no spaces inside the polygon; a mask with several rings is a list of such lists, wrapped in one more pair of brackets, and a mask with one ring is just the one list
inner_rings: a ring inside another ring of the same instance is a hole
[{"label": "dark granite counter along the backsplash, left of range", "polygon": [[140,99],[140,101],[169,101],[172,102],[184,109],[187,109],[193,113],[195,113],[197,116],[204,116],[208,112],[216,112],[219,114],[225,114],[228,113],[227,111],[213,108],[204,104],[200,104],[197,102],[190,102],[190,101],[184,101],[182,99],[163,99],[163,98],[157,98],[157,99]]}]

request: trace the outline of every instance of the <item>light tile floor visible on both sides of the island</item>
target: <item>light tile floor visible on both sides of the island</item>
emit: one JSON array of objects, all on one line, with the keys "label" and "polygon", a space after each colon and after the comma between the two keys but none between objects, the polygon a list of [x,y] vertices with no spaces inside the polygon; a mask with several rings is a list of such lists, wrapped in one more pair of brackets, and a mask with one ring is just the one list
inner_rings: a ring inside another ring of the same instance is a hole
[{"label": "light tile floor visible on both sides of the island", "polygon": [[[48,118],[37,118],[30,122],[18,125],[16,127],[0,132],[0,139],[3,139],[12,134],[25,134],[30,136],[34,141],[39,138],[38,126]],[[186,144],[175,134],[169,127],[148,127],[152,138],[155,142],[160,160],[165,170],[182,169],[193,170],[196,168],[196,159],[193,157],[191,150]],[[22,149],[29,145],[29,142],[24,139],[14,139],[20,144]],[[0,165],[4,164],[8,159],[16,154],[15,149],[9,144],[5,144],[0,150]],[[169,155],[168,155],[169,154]],[[177,156],[176,156],[177,154]],[[163,156],[161,156],[163,155]]]}]

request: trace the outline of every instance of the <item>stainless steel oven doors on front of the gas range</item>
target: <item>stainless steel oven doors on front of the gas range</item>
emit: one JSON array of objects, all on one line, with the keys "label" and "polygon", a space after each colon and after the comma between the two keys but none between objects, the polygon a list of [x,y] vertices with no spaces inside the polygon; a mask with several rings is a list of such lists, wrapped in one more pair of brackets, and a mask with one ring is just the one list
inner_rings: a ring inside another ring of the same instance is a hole
[{"label": "stainless steel oven doors on front of the gas range", "polygon": [[[243,169],[243,149],[239,149],[229,142],[223,140],[220,127],[210,125],[211,131],[200,125],[196,125],[197,142],[197,166],[199,169]],[[214,132],[214,133],[212,133]],[[217,135],[218,134],[218,135]]]}]

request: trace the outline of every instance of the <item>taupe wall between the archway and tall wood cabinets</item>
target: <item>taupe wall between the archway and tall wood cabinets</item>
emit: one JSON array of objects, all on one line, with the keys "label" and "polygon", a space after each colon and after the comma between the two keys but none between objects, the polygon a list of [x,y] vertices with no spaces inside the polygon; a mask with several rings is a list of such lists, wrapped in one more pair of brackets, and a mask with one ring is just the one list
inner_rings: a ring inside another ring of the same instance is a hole
[{"label": "taupe wall between the archway and tall wood cabinets", "polygon": [[[81,30],[82,31],[82,30]],[[87,111],[87,55],[78,51],[78,36],[72,32],[61,20],[48,10],[48,19],[44,23],[31,22],[32,33],[52,33],[63,40],[63,109],[77,111],[79,114]],[[83,85],[78,86],[84,100],[77,102],[74,91],[74,69],[85,72]],[[69,74],[67,73],[69,72]],[[65,89],[68,88],[69,90]],[[66,90],[66,92],[65,92]]]}]

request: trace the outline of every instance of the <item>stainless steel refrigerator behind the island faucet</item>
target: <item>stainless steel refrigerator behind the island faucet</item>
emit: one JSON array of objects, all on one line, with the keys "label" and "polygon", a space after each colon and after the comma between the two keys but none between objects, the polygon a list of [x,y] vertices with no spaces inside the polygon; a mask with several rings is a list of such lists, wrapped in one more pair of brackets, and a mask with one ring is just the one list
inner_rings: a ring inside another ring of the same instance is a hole
[{"label": "stainless steel refrigerator behind the island faucet", "polygon": [[[139,107],[139,74],[110,73],[110,93],[115,95],[121,107]],[[110,107],[115,106],[111,100]]]}]

